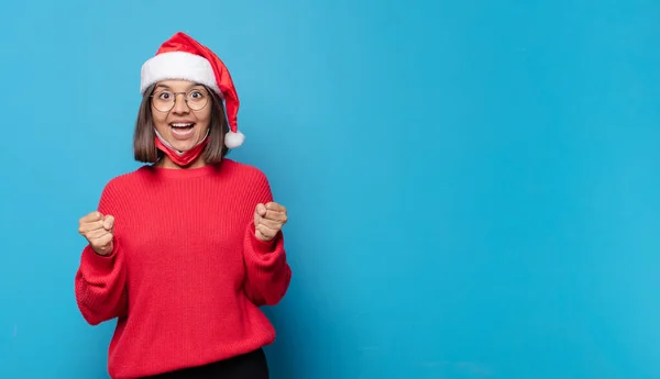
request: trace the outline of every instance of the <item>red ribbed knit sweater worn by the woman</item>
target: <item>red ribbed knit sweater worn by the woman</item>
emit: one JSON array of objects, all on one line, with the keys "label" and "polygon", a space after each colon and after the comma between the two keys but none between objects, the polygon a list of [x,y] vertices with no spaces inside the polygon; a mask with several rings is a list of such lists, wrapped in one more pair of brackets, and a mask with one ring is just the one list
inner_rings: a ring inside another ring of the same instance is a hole
[{"label": "red ribbed knit sweater worn by the woman", "polygon": [[272,201],[256,168],[224,159],[195,169],[143,166],[102,191],[114,216],[108,257],[84,248],[75,279],[85,320],[117,317],[112,378],[204,365],[271,344],[257,308],[277,303],[292,271],[282,232],[254,235],[254,209]]}]

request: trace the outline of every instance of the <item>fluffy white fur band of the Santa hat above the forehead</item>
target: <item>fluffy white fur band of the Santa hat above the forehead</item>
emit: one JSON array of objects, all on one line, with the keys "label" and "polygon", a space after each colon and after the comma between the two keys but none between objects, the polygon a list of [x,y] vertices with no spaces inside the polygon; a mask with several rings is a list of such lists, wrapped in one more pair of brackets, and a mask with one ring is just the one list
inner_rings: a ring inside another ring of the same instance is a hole
[{"label": "fluffy white fur band of the Santa hat above the forehead", "polygon": [[190,80],[220,92],[211,64],[204,57],[185,52],[163,53],[142,65],[140,93],[148,86],[168,79]]}]

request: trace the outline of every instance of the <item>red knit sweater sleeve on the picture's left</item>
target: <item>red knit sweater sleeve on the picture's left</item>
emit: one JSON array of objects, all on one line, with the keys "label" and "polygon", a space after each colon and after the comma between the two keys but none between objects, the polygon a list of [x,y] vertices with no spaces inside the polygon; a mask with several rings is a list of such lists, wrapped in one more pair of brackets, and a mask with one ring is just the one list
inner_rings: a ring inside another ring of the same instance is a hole
[{"label": "red knit sweater sleeve on the picture's left", "polygon": [[[107,186],[101,194],[99,212],[114,215],[112,189]],[[118,220],[121,222],[121,220]],[[112,253],[97,254],[90,244],[82,249],[80,265],[75,277],[76,302],[82,317],[91,325],[125,314],[128,301],[125,292],[124,255],[117,234]]]}]

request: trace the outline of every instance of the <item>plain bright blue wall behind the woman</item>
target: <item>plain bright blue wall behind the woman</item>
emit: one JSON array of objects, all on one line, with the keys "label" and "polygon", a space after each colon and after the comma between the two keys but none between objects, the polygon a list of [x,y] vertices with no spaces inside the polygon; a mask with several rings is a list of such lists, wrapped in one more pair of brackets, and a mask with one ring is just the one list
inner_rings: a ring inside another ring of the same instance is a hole
[{"label": "plain bright blue wall behind the woman", "polygon": [[140,66],[229,66],[288,207],[274,379],[660,377],[660,3],[0,5],[0,377],[107,378],[78,219],[132,170]]}]

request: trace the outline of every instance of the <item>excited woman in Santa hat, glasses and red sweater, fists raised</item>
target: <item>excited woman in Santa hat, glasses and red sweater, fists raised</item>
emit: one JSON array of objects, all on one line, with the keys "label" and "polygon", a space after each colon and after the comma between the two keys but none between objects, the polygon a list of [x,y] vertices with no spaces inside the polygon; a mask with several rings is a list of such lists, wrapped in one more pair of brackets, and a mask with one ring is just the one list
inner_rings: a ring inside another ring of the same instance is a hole
[{"label": "excited woman in Santa hat, glasses and red sweater, fists raised", "polygon": [[146,165],[80,219],[80,312],[117,319],[112,378],[268,378],[275,331],[257,306],[289,286],[287,213],[258,169],[226,158],[244,140],[231,77],[177,33],[144,63],[141,92],[134,155]]}]

